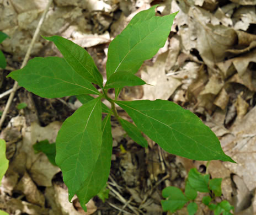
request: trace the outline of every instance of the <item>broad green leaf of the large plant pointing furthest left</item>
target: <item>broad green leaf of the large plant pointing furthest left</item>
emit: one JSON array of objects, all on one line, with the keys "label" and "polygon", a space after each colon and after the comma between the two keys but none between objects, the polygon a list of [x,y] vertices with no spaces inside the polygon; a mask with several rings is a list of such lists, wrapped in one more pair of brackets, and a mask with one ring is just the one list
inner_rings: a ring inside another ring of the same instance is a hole
[{"label": "broad green leaf of the large plant pointing furthest left", "polygon": [[7,77],[12,77],[28,91],[46,98],[100,95],[92,83],[74,72],[60,57],[35,57],[24,68],[11,72]]}]

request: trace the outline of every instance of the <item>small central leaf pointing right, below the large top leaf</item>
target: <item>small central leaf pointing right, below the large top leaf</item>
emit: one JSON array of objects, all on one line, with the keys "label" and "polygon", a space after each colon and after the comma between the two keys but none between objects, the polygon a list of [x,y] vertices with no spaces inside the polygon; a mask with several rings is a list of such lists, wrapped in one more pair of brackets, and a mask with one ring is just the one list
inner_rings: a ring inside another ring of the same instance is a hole
[{"label": "small central leaf pointing right, below the large top leaf", "polygon": [[125,86],[136,86],[143,84],[146,84],[146,82],[140,79],[139,77],[135,76],[134,74],[131,74],[130,72],[126,71],[120,71],[111,74],[111,76],[106,81],[104,88],[123,88]]}]

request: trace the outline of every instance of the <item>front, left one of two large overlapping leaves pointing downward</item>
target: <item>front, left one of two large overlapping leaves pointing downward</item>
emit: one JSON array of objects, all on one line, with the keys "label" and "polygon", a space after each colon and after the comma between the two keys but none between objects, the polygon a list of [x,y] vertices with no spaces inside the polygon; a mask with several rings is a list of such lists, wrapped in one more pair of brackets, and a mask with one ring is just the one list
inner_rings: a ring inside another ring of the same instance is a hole
[{"label": "front, left one of two large overlapping leaves pointing downward", "polygon": [[77,109],[63,122],[56,139],[56,164],[71,201],[92,172],[102,144],[102,106],[100,97]]}]

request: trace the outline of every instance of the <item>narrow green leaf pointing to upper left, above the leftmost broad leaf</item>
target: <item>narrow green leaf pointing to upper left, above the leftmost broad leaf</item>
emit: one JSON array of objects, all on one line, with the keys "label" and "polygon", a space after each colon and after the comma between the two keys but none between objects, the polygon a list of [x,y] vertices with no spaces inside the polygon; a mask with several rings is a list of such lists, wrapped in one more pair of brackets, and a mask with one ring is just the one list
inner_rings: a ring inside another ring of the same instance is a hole
[{"label": "narrow green leaf pointing to upper left, above the leftmost broad leaf", "polygon": [[85,49],[61,36],[44,37],[44,39],[54,42],[68,64],[80,76],[103,88],[102,74],[100,74],[93,58]]}]

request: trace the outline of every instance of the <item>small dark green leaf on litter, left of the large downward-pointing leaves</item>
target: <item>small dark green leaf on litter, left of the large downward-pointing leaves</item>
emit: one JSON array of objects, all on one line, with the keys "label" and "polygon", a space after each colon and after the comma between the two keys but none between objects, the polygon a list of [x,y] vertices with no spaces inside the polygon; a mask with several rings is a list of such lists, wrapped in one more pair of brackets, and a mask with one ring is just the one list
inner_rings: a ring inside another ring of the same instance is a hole
[{"label": "small dark green leaf on litter, left of the large downward-pointing leaves", "polygon": [[34,144],[33,148],[36,154],[39,152],[44,153],[49,159],[49,162],[51,162],[52,165],[56,166],[56,163],[55,163],[56,144],[55,143],[49,143],[49,141],[45,139],[44,141],[40,141]]}]

